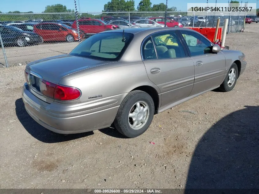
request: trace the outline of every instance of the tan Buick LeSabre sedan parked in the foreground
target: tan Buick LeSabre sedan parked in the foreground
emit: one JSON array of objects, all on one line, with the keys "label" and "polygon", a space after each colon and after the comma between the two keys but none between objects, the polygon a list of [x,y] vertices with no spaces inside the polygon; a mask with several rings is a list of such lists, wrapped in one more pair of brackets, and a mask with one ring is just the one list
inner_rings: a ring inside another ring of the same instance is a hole
[{"label": "tan Buick LeSabre sedan parked in the foreground", "polygon": [[[101,32],[68,55],[25,68],[29,115],[63,134],[109,127],[141,135],[154,114],[203,93],[230,91],[246,67],[240,51],[221,51],[190,29],[132,28]],[[222,94],[224,95],[224,94]]]}]

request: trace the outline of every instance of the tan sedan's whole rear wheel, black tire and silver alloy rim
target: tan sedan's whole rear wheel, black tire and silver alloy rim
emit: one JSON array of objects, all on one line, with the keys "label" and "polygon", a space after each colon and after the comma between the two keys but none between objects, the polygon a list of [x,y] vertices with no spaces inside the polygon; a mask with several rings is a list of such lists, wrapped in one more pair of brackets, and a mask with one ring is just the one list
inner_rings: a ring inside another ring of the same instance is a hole
[{"label": "tan sedan's whole rear wheel, black tire and silver alloy rim", "polygon": [[134,90],[122,101],[114,120],[116,129],[133,138],[147,131],[154,116],[152,97],[141,90]]}]

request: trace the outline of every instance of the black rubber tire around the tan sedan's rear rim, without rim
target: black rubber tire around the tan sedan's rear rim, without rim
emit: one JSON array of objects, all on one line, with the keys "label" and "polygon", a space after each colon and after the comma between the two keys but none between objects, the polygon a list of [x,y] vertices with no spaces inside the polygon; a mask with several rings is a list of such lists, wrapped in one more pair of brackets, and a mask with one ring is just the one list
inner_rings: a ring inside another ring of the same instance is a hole
[{"label": "black rubber tire around the tan sedan's rear rim, without rim", "polygon": [[[149,116],[146,123],[139,129],[135,130],[130,127],[129,113],[131,108],[138,101],[145,102],[149,107]],[[120,108],[114,120],[115,128],[122,134],[129,138],[137,137],[147,131],[154,117],[154,101],[152,97],[141,90],[134,90],[128,93],[128,95],[122,101]]]}]

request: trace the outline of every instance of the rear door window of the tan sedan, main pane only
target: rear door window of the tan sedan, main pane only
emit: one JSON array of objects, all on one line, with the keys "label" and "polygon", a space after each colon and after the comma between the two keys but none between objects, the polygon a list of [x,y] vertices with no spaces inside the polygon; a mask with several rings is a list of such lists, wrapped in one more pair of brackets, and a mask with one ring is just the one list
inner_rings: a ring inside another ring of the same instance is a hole
[{"label": "rear door window of the tan sedan, main pane only", "polygon": [[182,44],[174,31],[153,35],[158,59],[186,57]]}]

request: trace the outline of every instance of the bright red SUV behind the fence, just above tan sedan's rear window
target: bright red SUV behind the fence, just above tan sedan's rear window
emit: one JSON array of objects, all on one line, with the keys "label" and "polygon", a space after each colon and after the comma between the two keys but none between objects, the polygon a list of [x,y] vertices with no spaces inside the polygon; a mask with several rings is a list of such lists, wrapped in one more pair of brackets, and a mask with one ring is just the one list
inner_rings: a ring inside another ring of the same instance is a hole
[{"label": "bright red SUV behind the fence, just above tan sedan's rear window", "polygon": [[[117,25],[106,24],[105,21],[98,19],[78,20],[79,29],[85,34],[96,34],[99,32],[119,29]],[[76,28],[76,21],[74,21],[72,28]]]}]

